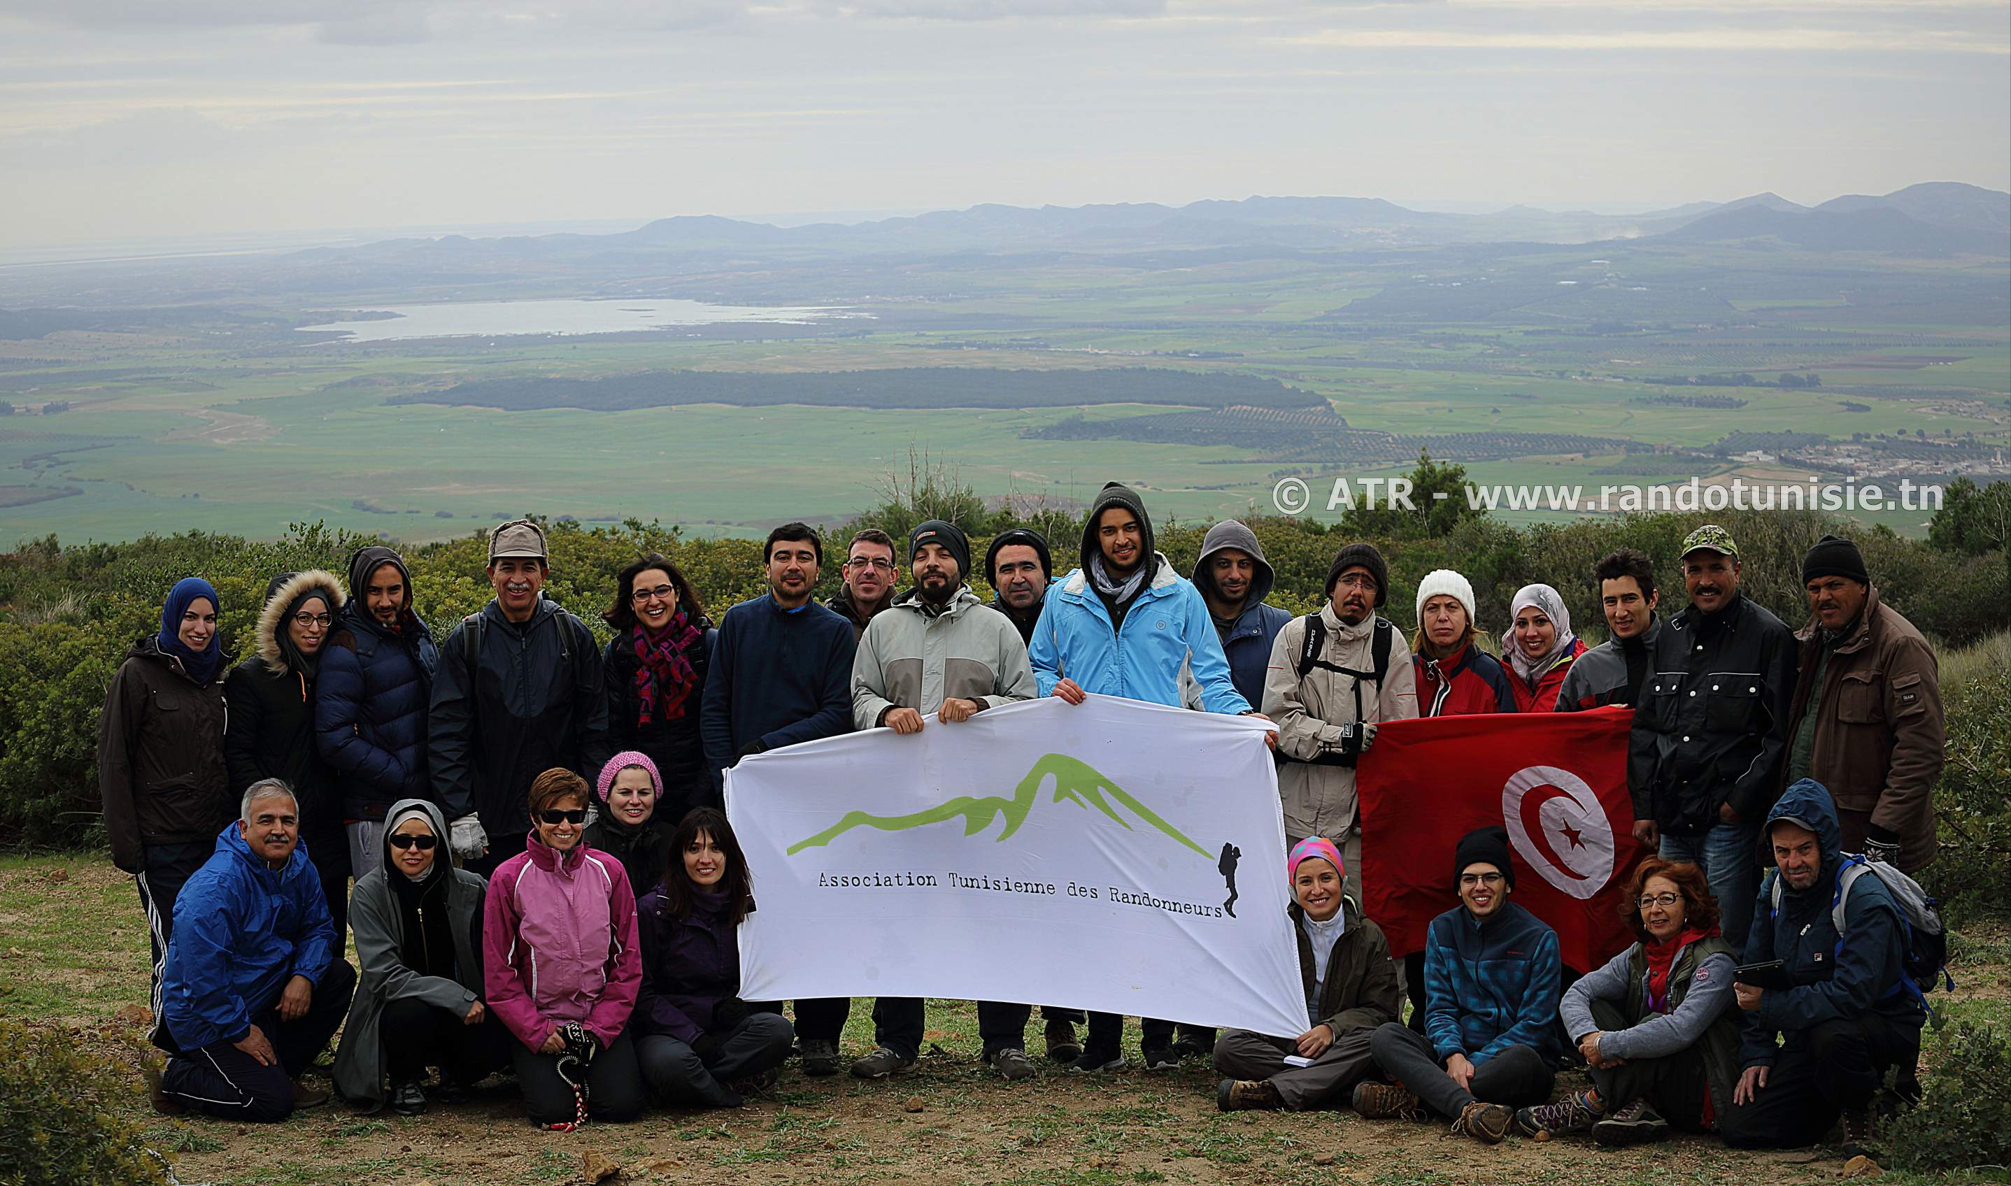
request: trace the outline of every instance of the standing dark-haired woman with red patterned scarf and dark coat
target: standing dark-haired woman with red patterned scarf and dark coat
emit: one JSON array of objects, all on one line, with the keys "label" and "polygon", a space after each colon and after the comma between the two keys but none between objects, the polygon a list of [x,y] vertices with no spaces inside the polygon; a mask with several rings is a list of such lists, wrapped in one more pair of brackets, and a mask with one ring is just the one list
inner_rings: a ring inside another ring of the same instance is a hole
[{"label": "standing dark-haired woman with red patterned scarf and dark coat", "polygon": [[[615,599],[601,619],[615,631],[601,655],[607,740],[615,750],[650,756],[658,772],[656,816],[664,828],[676,828],[690,808],[720,806],[698,736],[712,639],[720,631],[712,629],[698,591],[662,553],[637,557],[615,573]],[[652,870],[650,886],[656,876]],[[637,895],[646,888],[635,882]]]}]

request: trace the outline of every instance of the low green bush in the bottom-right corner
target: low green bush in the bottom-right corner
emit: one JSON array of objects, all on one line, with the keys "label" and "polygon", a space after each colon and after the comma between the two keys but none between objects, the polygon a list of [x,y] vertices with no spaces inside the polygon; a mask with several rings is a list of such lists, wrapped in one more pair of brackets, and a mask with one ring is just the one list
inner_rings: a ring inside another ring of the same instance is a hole
[{"label": "low green bush in the bottom-right corner", "polygon": [[1935,1035],[1921,1104],[1880,1134],[1894,1170],[1914,1174],[2011,1166],[2011,1041],[1957,1021]]}]

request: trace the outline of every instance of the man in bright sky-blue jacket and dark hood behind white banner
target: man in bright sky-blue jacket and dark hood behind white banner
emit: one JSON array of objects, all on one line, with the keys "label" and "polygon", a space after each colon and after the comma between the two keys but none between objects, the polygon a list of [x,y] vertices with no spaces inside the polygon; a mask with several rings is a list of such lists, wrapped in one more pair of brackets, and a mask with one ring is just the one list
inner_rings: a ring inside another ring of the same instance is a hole
[{"label": "man in bright sky-blue jacket and dark hood behind white banner", "polygon": [[[1128,696],[1178,708],[1182,673],[1193,679],[1207,712],[1255,714],[1229,677],[1229,659],[1215,635],[1209,605],[1152,547],[1144,503],[1122,482],[1110,482],[1082,525],[1082,567],[1048,589],[1028,645],[1040,696],[1082,704],[1094,696]],[[1172,1021],[1146,1019],[1146,1069],[1178,1065]],[[1090,1013],[1090,1039],[1076,1069],[1124,1065],[1124,1019]],[[1207,1045],[1191,1043],[1205,1051]]]}]

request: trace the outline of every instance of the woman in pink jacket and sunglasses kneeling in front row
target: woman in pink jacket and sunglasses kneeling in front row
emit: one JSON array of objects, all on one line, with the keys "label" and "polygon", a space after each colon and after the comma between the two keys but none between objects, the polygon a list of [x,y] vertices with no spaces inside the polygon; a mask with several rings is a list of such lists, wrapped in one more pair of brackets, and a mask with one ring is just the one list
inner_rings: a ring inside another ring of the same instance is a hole
[{"label": "woman in pink jacket and sunglasses kneeling in front row", "polygon": [[621,862],[581,840],[587,782],[571,770],[531,780],[531,842],[489,874],[483,979],[511,1035],[531,1124],[642,1114],[642,1069],[621,1033],[642,985],[635,893]]}]

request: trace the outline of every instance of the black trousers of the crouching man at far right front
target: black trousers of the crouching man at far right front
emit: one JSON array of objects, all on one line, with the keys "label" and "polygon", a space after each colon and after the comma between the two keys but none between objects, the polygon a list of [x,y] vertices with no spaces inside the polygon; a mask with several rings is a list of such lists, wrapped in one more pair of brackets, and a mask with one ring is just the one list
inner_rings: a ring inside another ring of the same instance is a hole
[{"label": "black trousers of the crouching man at far right front", "polygon": [[1918,1025],[1896,1025],[1880,1013],[1824,1021],[1788,1037],[1766,1088],[1752,1104],[1731,1106],[1717,1130],[1742,1150],[1816,1144],[1838,1116],[1870,1106],[1886,1067],[1910,1069],[1918,1057]]}]

